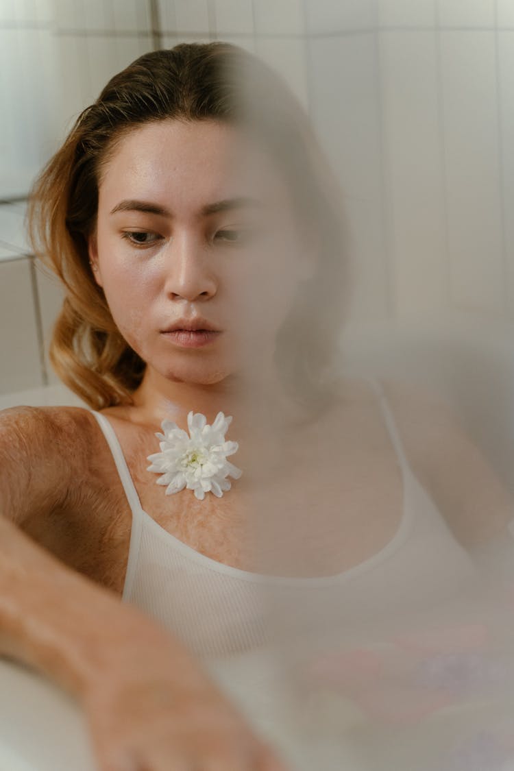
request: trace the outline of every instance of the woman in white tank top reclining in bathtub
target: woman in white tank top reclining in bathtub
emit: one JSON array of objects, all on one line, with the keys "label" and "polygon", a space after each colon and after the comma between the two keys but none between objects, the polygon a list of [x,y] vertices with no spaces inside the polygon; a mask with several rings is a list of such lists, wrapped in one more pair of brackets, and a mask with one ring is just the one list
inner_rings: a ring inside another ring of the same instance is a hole
[{"label": "woman in white tank top reclining in bathtub", "polygon": [[330,179],[281,82],[213,43],[115,76],[35,186],[66,288],[52,361],[93,412],[2,413],[0,651],[81,699],[102,771],[282,767],[202,662],[264,645],[290,590],[290,639],[334,607],[316,594],[304,628],[312,587],[344,624],[379,587],[395,610],[440,597],[472,580],[462,544],[510,519],[437,406],[328,378],[348,286]]}]

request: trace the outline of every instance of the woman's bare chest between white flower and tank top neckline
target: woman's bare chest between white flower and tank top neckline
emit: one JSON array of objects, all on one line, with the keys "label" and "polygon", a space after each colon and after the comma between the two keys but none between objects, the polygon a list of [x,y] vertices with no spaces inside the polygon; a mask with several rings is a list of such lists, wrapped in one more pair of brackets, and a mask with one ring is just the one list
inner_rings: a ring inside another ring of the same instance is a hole
[{"label": "woman's bare chest between white flower and tank top neckline", "polygon": [[311,448],[294,453],[294,463],[277,473],[247,468],[223,497],[207,493],[203,500],[192,490],[166,495],[146,466],[141,457],[129,458],[143,518],[200,554],[245,571],[342,572],[381,550],[403,514],[401,473],[386,447],[328,457]]}]

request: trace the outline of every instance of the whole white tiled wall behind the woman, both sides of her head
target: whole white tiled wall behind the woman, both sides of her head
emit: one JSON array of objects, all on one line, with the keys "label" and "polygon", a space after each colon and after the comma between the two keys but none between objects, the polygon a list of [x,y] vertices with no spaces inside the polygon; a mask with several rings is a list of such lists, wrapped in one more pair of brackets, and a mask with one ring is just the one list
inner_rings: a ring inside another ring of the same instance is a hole
[{"label": "whole white tiled wall behind the woman, both sides of her head", "polygon": [[[311,109],[344,188],[354,320],[514,314],[514,0],[160,0],[159,11],[163,45],[257,49]],[[147,0],[0,2],[0,88],[18,93],[0,158],[22,147],[13,173],[0,163],[4,183],[29,179],[29,161],[152,48],[149,26]],[[26,248],[21,214],[0,210],[0,270]],[[9,269],[16,291],[23,270]],[[38,286],[48,328],[59,297]]]}]

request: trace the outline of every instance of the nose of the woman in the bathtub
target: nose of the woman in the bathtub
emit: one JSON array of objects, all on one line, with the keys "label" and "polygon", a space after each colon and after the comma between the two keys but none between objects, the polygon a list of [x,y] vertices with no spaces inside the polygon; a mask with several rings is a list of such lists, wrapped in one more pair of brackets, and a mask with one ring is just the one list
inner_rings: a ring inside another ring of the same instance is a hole
[{"label": "nose of the woman in the bathtub", "polygon": [[166,295],[207,300],[217,292],[217,277],[207,247],[190,236],[176,237],[166,254]]}]

